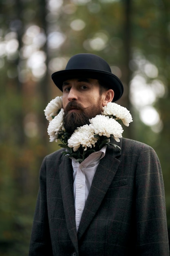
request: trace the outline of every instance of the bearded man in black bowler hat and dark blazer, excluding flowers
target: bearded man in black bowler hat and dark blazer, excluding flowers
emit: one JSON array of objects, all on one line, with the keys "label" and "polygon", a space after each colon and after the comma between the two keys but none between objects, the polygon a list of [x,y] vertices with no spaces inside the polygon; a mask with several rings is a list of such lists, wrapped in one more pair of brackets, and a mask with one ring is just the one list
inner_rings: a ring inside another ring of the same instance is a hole
[{"label": "bearded man in black bowler hat and dark blazer, excluding flowers", "polygon": [[[73,56],[52,79],[63,91],[69,134],[123,94],[93,54]],[[114,144],[121,150],[105,145],[80,164],[63,149],[44,158],[29,256],[169,256],[159,159],[138,141]]]}]

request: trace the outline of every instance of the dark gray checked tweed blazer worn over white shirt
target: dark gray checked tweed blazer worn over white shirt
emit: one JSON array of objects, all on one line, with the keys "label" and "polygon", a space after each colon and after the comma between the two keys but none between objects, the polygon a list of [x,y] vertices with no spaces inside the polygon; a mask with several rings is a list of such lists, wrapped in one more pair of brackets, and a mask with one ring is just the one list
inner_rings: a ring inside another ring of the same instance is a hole
[{"label": "dark gray checked tweed blazer worn over white shirt", "polygon": [[157,154],[130,139],[118,145],[99,163],[78,232],[71,160],[62,150],[44,158],[29,256],[169,256]]}]

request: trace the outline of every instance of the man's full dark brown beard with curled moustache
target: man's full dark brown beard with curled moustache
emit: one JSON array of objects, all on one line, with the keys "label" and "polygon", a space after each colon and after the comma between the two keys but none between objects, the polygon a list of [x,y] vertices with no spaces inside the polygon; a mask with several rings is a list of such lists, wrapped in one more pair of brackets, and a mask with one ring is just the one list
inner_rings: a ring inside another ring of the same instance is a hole
[{"label": "man's full dark brown beard with curled moustache", "polygon": [[[70,112],[72,108],[78,109],[79,112]],[[76,101],[70,101],[66,108],[64,109],[64,128],[66,132],[72,134],[77,127],[84,126],[85,124],[90,124],[89,119],[100,115],[102,112],[102,103],[99,100],[96,104],[91,107],[84,108],[82,104]]]}]

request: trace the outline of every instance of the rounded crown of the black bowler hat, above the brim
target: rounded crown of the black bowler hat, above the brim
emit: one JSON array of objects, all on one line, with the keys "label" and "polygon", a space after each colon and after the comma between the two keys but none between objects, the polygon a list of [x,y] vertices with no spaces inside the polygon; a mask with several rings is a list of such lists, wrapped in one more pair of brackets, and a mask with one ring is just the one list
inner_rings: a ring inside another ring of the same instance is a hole
[{"label": "rounded crown of the black bowler hat, above the brim", "polygon": [[76,54],[70,58],[66,65],[66,70],[102,70],[110,72],[110,66],[101,57],[95,54]]}]

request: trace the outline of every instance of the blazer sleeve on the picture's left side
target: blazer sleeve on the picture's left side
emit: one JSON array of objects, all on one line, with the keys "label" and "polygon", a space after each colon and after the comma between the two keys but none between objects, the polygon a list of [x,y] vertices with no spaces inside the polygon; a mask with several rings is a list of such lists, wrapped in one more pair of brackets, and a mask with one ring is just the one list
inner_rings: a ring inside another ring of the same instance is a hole
[{"label": "blazer sleeve on the picture's left side", "polygon": [[40,188],[35,207],[29,256],[52,256],[49,220],[46,203],[46,160],[40,168]]}]

